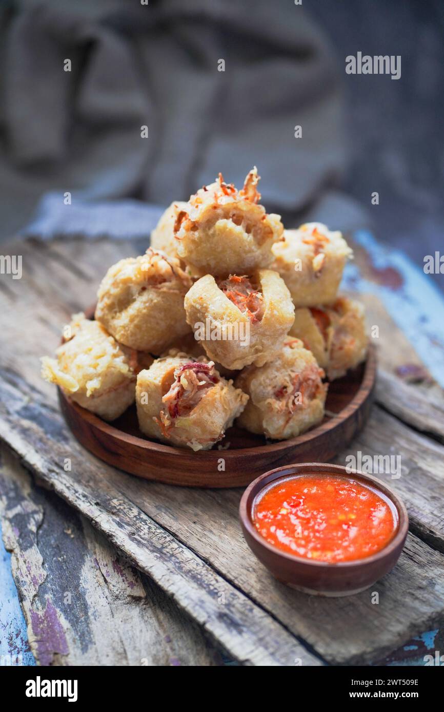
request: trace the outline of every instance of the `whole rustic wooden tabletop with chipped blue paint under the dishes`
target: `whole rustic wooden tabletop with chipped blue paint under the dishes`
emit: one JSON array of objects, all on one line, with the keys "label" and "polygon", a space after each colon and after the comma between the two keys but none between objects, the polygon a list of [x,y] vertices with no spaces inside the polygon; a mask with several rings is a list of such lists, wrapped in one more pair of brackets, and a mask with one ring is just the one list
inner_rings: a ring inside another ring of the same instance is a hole
[{"label": "whole rustic wooden tabletop with chipped blue paint under the dishes", "polygon": [[3,249],[23,256],[20,280],[0,278],[0,492],[5,563],[24,620],[11,589],[0,608],[2,652],[24,664],[319,666],[409,654],[423,664],[423,652],[439,648],[443,300],[401,253],[368,234],[354,247],[344,286],[366,303],[380,370],[369,422],[336,461],[401,458],[400,477],[379,476],[406,502],[411,531],[389,575],[339,599],[272,579],[242,538],[241,490],[142,481],[95,459],[68,431],[38,357],[93,302],[106,268],[142,246],[79,239]]}]

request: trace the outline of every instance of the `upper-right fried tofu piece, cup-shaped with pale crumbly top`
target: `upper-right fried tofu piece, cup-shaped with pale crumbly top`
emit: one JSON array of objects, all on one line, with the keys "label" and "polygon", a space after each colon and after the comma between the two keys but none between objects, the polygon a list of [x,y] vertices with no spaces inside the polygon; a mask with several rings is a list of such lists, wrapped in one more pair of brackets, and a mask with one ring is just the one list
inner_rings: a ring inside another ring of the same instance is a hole
[{"label": "upper-right fried tofu piece, cup-shaped with pale crumbly top", "polygon": [[285,230],[284,241],[272,250],[272,269],[284,279],[296,307],[334,302],[345,263],[353,255],[341,233],[322,223]]}]

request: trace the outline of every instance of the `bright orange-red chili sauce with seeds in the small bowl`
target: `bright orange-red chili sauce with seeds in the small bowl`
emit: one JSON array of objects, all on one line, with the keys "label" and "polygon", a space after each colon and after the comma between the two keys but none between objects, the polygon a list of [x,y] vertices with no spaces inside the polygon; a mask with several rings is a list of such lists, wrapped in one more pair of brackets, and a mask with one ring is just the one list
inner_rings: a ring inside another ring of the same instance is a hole
[{"label": "bright orange-red chili sauce with seeds in the small bowl", "polygon": [[300,475],[272,484],[253,504],[259,534],[288,554],[336,563],[383,549],[398,512],[382,492],[335,475]]}]

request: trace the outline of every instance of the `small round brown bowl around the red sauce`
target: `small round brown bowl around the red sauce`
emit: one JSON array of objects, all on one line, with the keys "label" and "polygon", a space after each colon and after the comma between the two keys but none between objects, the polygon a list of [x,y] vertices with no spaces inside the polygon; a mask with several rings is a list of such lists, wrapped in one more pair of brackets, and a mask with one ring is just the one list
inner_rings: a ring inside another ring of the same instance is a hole
[{"label": "small round brown bowl around the red sauce", "polygon": [[[255,498],[270,482],[309,473],[326,473],[353,478],[363,484],[371,485],[390,499],[398,511],[398,530],[388,545],[364,559],[329,563],[287,554],[269,544],[257,532],[253,523]],[[351,596],[371,586],[393,569],[403,550],[408,532],[406,507],[385,483],[376,477],[355,470],[348,472],[341,465],[319,462],[279,467],[258,477],[242,495],[239,518],[249,548],[277,580],[298,591],[318,596]]]}]

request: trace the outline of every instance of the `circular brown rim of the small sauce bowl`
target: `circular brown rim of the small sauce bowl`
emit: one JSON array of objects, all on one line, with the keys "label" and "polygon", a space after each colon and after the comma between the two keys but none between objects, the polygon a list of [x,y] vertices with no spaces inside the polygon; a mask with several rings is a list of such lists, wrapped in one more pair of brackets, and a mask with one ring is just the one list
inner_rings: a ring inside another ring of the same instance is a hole
[{"label": "circular brown rim of the small sauce bowl", "polygon": [[[396,531],[396,534],[393,536],[393,538],[388,542],[386,546],[384,546],[382,549],[377,551],[376,553],[372,554],[371,556],[366,556],[361,559],[353,559],[351,561],[336,561],[336,562],[330,562],[330,561],[316,561],[316,560],[311,560],[307,559],[302,556],[296,556],[294,554],[289,554],[286,553],[285,551],[281,551],[269,542],[267,542],[264,537],[262,537],[259,533],[257,533],[257,529],[254,527],[252,523],[252,503],[255,498],[259,495],[259,493],[264,489],[266,486],[268,486],[270,483],[273,481],[277,481],[280,477],[283,479],[285,478],[291,478],[294,477],[294,475],[297,475],[298,472],[300,474],[303,474],[306,472],[307,468],[311,468],[314,473],[325,473],[325,474],[338,474],[341,476],[344,476],[346,478],[356,478],[356,479],[361,479],[364,482],[373,485],[373,487],[379,491],[381,491],[383,494],[388,497],[393,505],[396,507],[396,510],[398,512],[398,530]],[[290,471],[292,470],[292,471]],[[285,471],[282,475],[282,471]],[[271,479],[267,479],[270,476],[272,476]],[[261,485],[261,483],[263,484]],[[260,486],[259,486],[260,485]],[[259,486],[259,489],[257,492],[254,494],[252,493],[254,488],[257,488]],[[249,504],[249,499],[252,498],[251,504]],[[386,485],[385,482],[382,480],[378,479],[377,477],[373,475],[368,475],[366,473],[360,472],[358,470],[352,469],[349,470],[346,468],[344,465],[336,465],[336,464],[331,464],[327,462],[301,462],[301,463],[294,463],[294,464],[289,464],[289,465],[284,465],[281,467],[274,468],[272,470],[269,470],[267,472],[264,472],[262,475],[259,475],[255,480],[253,480],[247,488],[244,490],[244,493],[242,493],[242,498],[239,503],[239,519],[242,524],[242,527],[247,530],[248,534],[256,541],[259,546],[263,547],[264,549],[268,550],[270,553],[277,557],[281,557],[283,560],[287,562],[292,562],[294,565],[306,565],[306,566],[311,566],[311,567],[316,567],[320,569],[329,569],[329,568],[334,568],[336,570],[338,569],[349,569],[353,568],[356,566],[365,566],[365,565],[371,565],[373,562],[377,562],[379,560],[382,560],[383,558],[390,556],[391,553],[393,553],[398,546],[404,542],[406,539],[407,533],[408,533],[408,513],[405,504],[401,500],[401,498],[396,494],[395,491],[392,490],[391,487]]]}]

